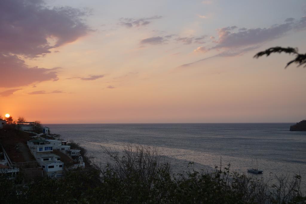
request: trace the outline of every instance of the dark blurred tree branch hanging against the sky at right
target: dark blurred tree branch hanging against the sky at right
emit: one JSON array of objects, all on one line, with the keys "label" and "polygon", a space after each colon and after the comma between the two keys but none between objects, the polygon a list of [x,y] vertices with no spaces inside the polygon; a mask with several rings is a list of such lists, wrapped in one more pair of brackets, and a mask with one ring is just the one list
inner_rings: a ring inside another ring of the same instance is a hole
[{"label": "dark blurred tree branch hanging against the sky at right", "polygon": [[295,59],[289,61],[287,63],[287,65],[285,66],[285,68],[287,68],[289,65],[291,65],[292,63],[296,63],[298,64],[297,66],[301,66],[301,65],[304,65],[304,67],[306,67],[306,53],[305,54],[300,54],[298,53],[298,49],[297,48],[292,48],[292,47],[271,47],[265,51],[262,51],[262,52],[259,52],[257,53],[254,58],[258,58],[258,57],[261,57],[263,55],[267,55],[269,56],[271,53],[282,53],[282,52],[285,52],[285,53],[288,53],[288,54],[293,54],[295,55]]}]

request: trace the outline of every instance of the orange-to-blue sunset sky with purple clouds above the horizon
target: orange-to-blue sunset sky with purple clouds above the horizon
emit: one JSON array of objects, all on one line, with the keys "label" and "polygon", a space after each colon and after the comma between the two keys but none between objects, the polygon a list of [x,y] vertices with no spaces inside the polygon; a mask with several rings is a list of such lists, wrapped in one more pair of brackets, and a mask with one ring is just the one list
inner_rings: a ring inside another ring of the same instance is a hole
[{"label": "orange-to-blue sunset sky with purple clouds above the horizon", "polygon": [[50,123],[298,122],[304,0],[2,0],[0,115]]}]

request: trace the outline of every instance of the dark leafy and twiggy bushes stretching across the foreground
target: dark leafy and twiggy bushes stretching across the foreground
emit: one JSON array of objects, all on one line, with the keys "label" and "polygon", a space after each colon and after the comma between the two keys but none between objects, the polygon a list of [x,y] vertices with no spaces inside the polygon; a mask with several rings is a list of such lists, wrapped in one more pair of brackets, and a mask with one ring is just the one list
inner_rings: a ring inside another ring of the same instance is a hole
[{"label": "dark leafy and twiggy bushes stretching across the foreground", "polygon": [[230,173],[230,165],[213,172],[173,175],[156,149],[128,146],[123,153],[104,150],[110,162],[99,171],[69,172],[65,178],[43,178],[22,184],[0,180],[1,203],[306,203],[300,177],[264,180]]}]

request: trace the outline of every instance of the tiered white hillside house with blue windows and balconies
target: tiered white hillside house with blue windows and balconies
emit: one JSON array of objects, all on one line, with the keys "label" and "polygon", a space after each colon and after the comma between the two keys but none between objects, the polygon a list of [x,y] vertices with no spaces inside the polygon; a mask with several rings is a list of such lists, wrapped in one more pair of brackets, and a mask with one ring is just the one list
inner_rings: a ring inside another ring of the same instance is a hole
[{"label": "tiered white hillside house with blue windows and balconies", "polygon": [[57,174],[62,174],[64,163],[61,161],[60,156],[52,153],[53,144],[41,139],[30,140],[27,144],[37,163],[47,172],[47,175],[56,176]]}]

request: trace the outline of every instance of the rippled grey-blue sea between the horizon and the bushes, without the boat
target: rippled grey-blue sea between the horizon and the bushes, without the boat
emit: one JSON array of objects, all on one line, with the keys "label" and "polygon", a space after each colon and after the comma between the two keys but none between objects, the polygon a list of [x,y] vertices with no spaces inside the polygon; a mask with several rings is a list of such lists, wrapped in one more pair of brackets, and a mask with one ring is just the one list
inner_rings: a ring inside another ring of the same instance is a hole
[{"label": "rippled grey-blue sea between the horizon and the bushes, without the boat", "polygon": [[306,132],[291,132],[293,123],[240,124],[46,124],[61,139],[80,143],[102,162],[103,148],[121,151],[127,144],[156,147],[171,162],[174,172],[195,168],[212,170],[230,163],[230,169],[247,173],[263,169],[262,175],[300,174],[306,187]]}]

